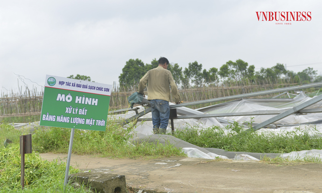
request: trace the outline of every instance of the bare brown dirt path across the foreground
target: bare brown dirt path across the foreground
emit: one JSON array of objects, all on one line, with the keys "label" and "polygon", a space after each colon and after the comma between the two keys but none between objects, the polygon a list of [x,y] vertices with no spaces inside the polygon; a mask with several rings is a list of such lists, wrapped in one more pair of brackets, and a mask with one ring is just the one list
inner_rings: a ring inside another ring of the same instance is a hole
[{"label": "bare brown dirt path across the foreground", "polygon": [[[67,154],[40,154],[48,161]],[[125,175],[142,193],[322,193],[322,164],[269,165],[250,161],[213,161],[170,157],[152,160],[71,156],[81,170]]]}]

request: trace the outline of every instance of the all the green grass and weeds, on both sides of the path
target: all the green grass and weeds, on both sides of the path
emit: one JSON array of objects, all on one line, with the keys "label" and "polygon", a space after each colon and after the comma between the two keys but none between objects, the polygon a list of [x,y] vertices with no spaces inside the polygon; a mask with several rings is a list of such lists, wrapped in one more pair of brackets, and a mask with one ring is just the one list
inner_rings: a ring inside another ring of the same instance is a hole
[{"label": "all the green grass and weeds, on both sides of the path", "polygon": [[[134,124],[134,123],[132,123]],[[128,142],[129,133],[134,125],[128,129],[120,127],[113,120],[107,121],[106,131],[75,130],[73,140],[73,154],[97,154],[112,158],[159,158],[169,156],[186,156],[180,149],[171,144],[162,145],[154,143],[131,144]],[[235,122],[225,128],[198,127],[186,128],[177,131],[174,136],[184,141],[206,148],[219,148],[234,152],[254,153],[290,153],[322,148],[322,134],[314,128],[284,132],[282,134],[268,133],[242,133],[245,130]],[[0,140],[10,138],[13,144],[4,148],[0,144],[0,193],[54,193],[63,191],[63,176],[66,165],[64,162],[48,162],[41,160],[38,153],[67,153],[71,129],[47,128],[36,129],[32,135],[33,153],[26,154],[25,184],[20,188],[20,152],[19,136],[28,131],[18,131],[7,124],[0,125]],[[309,134],[313,132],[314,135]],[[217,160],[217,159],[216,159]],[[303,163],[317,163],[320,159],[305,157],[298,160],[287,160],[280,157],[271,159],[263,158],[263,163],[293,165]],[[70,169],[70,173],[79,170]],[[74,189],[67,185],[66,192],[86,192],[85,189]]]}]

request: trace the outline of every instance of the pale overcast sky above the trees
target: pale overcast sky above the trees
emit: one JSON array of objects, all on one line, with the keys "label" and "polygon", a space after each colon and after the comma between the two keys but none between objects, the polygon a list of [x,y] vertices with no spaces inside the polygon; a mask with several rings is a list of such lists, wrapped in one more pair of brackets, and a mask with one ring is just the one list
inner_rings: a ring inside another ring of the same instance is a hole
[{"label": "pale overcast sky above the trees", "polygon": [[[17,92],[22,80],[40,89],[46,75],[112,85],[131,58],[207,70],[242,59],[256,71],[282,63],[321,75],[321,8],[321,0],[0,0],[0,89]],[[312,19],[279,25],[258,11]]]}]

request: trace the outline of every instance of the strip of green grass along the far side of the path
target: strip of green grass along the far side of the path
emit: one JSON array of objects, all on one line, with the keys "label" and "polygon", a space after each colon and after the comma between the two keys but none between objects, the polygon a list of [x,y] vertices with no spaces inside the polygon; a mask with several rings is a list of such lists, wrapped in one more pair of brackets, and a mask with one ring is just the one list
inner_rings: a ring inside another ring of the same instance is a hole
[{"label": "strip of green grass along the far side of the path", "polygon": [[[0,140],[10,138],[14,143],[19,143],[21,133],[12,126],[0,126]],[[180,149],[171,144],[128,142],[129,133],[133,127],[124,129],[113,120],[108,120],[106,131],[75,130],[73,140],[73,154],[98,154],[114,158],[158,158],[169,156],[185,156]],[[233,152],[253,153],[290,153],[293,151],[322,149],[322,134],[317,130],[306,129],[276,134],[267,133],[242,133],[244,128],[237,122],[225,128],[198,127],[186,128],[177,131],[174,136],[184,141],[205,148],[219,148]],[[36,129],[32,135],[33,150],[45,153],[67,153],[70,139],[70,129],[56,128]],[[314,135],[309,134],[313,132]],[[3,146],[1,144],[1,146]],[[0,146],[0,147],[1,147]]]}]

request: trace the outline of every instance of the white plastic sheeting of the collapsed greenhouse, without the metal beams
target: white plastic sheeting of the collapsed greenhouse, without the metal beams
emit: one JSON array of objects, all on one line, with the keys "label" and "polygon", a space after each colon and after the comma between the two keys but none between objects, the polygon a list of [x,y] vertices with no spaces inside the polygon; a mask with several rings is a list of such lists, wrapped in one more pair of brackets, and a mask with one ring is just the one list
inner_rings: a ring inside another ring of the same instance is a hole
[{"label": "white plastic sheeting of the collapsed greenhouse, without the metal beams", "polygon": [[[217,113],[237,113],[237,112],[252,112],[252,111],[264,111],[264,110],[286,110],[290,109],[296,105],[299,105],[303,102],[306,102],[310,100],[310,97],[307,97],[303,93],[300,93],[295,98],[291,99],[242,99],[238,101],[234,101],[231,103],[228,103],[225,106],[221,107],[214,107],[212,109],[208,109],[204,113],[208,114],[217,114]],[[312,109],[312,108],[321,108],[322,107],[322,102],[318,102],[314,105],[309,106],[307,109]],[[186,107],[184,107],[186,108]],[[139,112],[143,111],[144,108],[141,107],[139,109]],[[196,110],[194,110],[196,111]],[[201,114],[201,112],[198,112],[198,114]],[[117,115],[117,118],[129,118],[131,116],[134,116],[135,112],[130,111],[127,112],[126,114],[123,115]],[[254,121],[261,123],[273,116],[276,115],[262,115],[262,116],[227,116],[227,117],[221,117],[224,119],[232,120],[232,121],[237,121],[239,123],[243,123],[244,121]],[[142,117],[152,117],[151,113],[148,113]],[[251,117],[254,117],[251,120]],[[280,121],[277,121],[275,124],[300,124],[300,123],[305,123],[305,122],[311,122],[311,121],[318,121],[322,119],[322,113],[311,113],[311,114],[305,114],[305,115],[290,115],[287,116]],[[170,122],[167,128],[167,132],[171,132],[170,128]],[[201,119],[174,119],[174,127],[176,130],[182,130],[185,128],[207,128],[207,127],[212,127],[212,126],[219,126],[223,127],[222,124],[217,120],[217,118],[201,118]],[[143,122],[138,122],[136,124],[135,128],[135,133],[138,134],[143,134],[146,135],[146,137],[150,137],[153,135],[152,132],[152,121],[143,121]],[[285,132],[293,132],[300,134],[301,131],[308,131],[308,133],[312,135],[316,135],[317,133],[322,134],[322,124],[320,125],[301,125],[301,126],[292,126],[292,127],[281,127],[278,129],[261,129],[258,132],[260,133],[267,133],[269,134],[270,132],[276,133],[276,134],[283,134]],[[189,148],[189,147],[184,147],[182,148],[185,154],[187,154],[189,157],[201,157],[201,158],[206,158],[206,159],[214,159],[216,157],[221,157],[221,158],[227,158],[224,155],[220,154],[214,154],[214,153],[204,153],[199,149],[196,148]],[[232,159],[238,159],[238,160],[258,160],[257,158],[253,157],[249,154],[236,154],[236,156]],[[301,152],[291,152],[289,154],[282,154],[282,157],[287,157],[288,159],[302,159],[307,156],[311,157],[319,157],[322,159],[322,150],[308,150],[308,151],[301,151]]]}]

